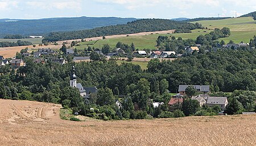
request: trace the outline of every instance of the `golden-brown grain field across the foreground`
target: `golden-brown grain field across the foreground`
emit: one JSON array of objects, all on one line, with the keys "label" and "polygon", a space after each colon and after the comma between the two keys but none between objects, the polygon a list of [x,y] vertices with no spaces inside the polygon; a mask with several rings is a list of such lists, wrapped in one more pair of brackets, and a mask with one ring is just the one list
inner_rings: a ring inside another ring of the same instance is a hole
[{"label": "golden-brown grain field across the foreground", "polygon": [[11,100],[0,105],[0,145],[256,144],[256,115],[72,122],[59,118],[60,105]]}]

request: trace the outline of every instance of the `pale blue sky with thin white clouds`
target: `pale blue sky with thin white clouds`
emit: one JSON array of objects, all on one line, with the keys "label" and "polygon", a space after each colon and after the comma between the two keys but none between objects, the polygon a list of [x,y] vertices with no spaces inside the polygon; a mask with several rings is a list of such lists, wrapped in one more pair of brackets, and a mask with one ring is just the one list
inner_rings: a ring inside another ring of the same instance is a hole
[{"label": "pale blue sky with thin white clouds", "polygon": [[256,11],[255,0],[0,0],[0,19],[57,17],[199,18]]}]

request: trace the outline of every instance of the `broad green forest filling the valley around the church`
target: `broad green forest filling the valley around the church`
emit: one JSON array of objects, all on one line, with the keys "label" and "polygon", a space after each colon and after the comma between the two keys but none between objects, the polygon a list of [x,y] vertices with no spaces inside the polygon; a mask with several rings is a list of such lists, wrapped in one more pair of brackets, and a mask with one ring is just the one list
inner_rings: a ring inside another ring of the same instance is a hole
[{"label": "broad green forest filling the valley around the church", "polygon": [[[255,50],[232,49],[193,52],[172,62],[152,59],[147,70],[131,63],[118,65],[114,59],[76,63],[77,82],[98,88],[98,93],[89,100],[69,87],[73,63],[42,64],[27,58],[26,66],[16,71],[10,66],[0,67],[0,98],[58,103],[81,115],[105,120],[216,115],[220,109],[200,108],[193,100],[185,100],[180,109],[168,110],[169,92],[177,93],[180,84],[199,84],[210,85],[214,96],[228,96],[228,107],[238,107],[229,108],[229,114],[255,111],[255,54]],[[122,101],[122,109],[115,106],[117,99]],[[152,101],[164,105],[153,108]]]}]

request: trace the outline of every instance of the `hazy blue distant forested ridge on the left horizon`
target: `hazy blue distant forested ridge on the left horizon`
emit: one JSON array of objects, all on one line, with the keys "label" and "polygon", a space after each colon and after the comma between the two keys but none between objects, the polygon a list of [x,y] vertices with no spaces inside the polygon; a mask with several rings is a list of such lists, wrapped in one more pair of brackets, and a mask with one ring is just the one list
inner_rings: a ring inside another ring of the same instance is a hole
[{"label": "hazy blue distant forested ridge on the left horizon", "polygon": [[5,35],[44,35],[49,32],[78,31],[109,25],[126,24],[136,18],[46,18],[34,20],[0,19],[0,37]]}]

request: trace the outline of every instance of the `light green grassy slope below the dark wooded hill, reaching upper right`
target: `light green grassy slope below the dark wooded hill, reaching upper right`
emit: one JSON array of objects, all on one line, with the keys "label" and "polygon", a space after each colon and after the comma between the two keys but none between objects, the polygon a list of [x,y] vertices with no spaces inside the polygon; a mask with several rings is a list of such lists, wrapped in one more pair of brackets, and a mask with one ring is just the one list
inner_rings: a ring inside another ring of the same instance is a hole
[{"label": "light green grassy slope below the dark wooded hill, reaching upper right", "polygon": [[[196,22],[193,22],[196,23]],[[224,20],[205,20],[199,21],[198,23],[203,24],[204,27],[208,27],[209,29],[214,28],[223,28],[228,27],[231,30],[231,36],[226,38],[221,38],[220,40],[224,40],[225,42],[229,42],[229,40],[233,40],[234,42],[249,42],[250,38],[253,38],[256,35],[256,21],[253,18],[230,18]],[[196,39],[199,35],[205,35],[210,32],[204,32],[205,30],[196,29],[193,30],[192,33],[175,33],[175,34],[166,34],[165,36],[175,36],[182,37],[183,39],[192,38]],[[145,48],[148,49],[155,49],[156,39],[158,36],[163,34],[156,34],[156,35],[147,35],[147,36],[128,36],[128,37],[119,37],[119,38],[110,38],[107,40],[99,40],[99,41],[90,41],[90,42],[82,42],[81,46],[77,46],[77,49],[84,49],[87,47],[86,44],[95,44],[89,45],[91,47],[99,48],[103,44],[109,44],[111,48],[115,47],[118,41],[121,41],[125,44],[131,44],[133,42],[135,47],[142,50]]]}]

